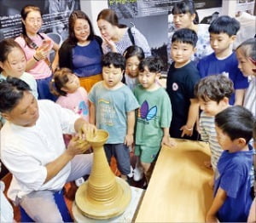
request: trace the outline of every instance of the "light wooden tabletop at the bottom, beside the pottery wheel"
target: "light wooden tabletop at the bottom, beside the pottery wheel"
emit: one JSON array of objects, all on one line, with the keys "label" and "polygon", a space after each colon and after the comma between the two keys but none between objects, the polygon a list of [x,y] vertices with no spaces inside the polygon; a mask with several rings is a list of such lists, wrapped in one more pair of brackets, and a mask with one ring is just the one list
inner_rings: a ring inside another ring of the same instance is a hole
[{"label": "light wooden tabletop at the bottom, beside the pottery wheel", "polygon": [[176,148],[161,148],[136,222],[205,221],[212,204],[212,170],[203,162],[210,150],[204,142],[176,141]]}]

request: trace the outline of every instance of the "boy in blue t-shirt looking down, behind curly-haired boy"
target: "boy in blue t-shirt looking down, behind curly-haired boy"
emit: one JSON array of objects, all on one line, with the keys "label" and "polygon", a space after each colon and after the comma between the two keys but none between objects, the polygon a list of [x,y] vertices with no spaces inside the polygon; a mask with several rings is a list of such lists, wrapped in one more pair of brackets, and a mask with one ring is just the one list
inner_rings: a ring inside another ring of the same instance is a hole
[{"label": "boy in blue t-shirt looking down, behind curly-haired boy", "polygon": [[212,74],[224,74],[234,83],[235,94],[230,98],[230,105],[242,105],[245,89],[248,87],[247,77],[239,71],[236,54],[232,52],[232,43],[240,24],[229,16],[220,16],[209,26],[210,44],[213,53],[202,58],[197,67],[201,77]]}]

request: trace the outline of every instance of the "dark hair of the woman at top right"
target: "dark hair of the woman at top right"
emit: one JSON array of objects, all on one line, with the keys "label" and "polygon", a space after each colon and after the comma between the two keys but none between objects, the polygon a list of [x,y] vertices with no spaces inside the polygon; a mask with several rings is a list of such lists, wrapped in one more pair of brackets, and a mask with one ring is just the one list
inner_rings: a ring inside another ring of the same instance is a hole
[{"label": "dark hair of the woman at top right", "polygon": [[172,8],[172,14],[195,14],[194,24],[199,24],[199,16],[195,11],[195,4],[192,0],[183,0],[182,2],[176,3]]}]

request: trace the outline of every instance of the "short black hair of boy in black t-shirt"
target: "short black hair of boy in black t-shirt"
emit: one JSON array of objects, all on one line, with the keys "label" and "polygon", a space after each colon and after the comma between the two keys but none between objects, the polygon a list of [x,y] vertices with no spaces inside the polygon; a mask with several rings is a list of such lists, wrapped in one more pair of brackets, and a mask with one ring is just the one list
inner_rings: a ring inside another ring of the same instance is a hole
[{"label": "short black hair of boy in black t-shirt", "polygon": [[172,36],[172,43],[180,42],[180,43],[188,43],[193,47],[196,46],[198,37],[194,30],[183,28],[174,32]]}]

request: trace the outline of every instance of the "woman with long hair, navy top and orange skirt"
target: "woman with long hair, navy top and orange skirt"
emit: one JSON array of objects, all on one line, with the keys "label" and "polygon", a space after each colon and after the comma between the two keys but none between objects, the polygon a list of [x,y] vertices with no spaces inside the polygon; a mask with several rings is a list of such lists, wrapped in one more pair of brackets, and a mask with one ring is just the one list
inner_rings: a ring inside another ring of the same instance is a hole
[{"label": "woman with long hair, navy top and orange skirt", "polygon": [[102,80],[102,38],[94,34],[89,17],[80,10],[70,14],[68,32],[59,50],[59,66],[72,70],[89,92]]}]

